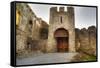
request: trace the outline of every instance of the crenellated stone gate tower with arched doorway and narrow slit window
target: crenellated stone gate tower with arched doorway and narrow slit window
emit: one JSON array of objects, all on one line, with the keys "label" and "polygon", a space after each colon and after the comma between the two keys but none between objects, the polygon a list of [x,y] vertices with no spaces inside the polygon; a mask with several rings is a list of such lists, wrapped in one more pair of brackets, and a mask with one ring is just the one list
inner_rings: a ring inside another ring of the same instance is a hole
[{"label": "crenellated stone gate tower with arched doorway and narrow slit window", "polygon": [[74,8],[50,8],[47,52],[75,52]]}]

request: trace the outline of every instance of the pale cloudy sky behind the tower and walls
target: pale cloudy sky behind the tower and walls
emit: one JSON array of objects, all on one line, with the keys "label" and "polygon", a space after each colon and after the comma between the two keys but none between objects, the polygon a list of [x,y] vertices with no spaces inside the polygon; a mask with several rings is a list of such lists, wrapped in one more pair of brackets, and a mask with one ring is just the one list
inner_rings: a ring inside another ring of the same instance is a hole
[{"label": "pale cloudy sky behind the tower and walls", "polygon": [[[63,5],[43,5],[28,4],[37,17],[42,18],[49,23],[49,14],[51,7],[60,7]],[[67,7],[67,6],[63,6]],[[88,28],[91,25],[96,26],[96,8],[73,6],[75,10],[75,28]],[[57,9],[59,11],[59,9]],[[65,9],[67,11],[67,9]]]}]

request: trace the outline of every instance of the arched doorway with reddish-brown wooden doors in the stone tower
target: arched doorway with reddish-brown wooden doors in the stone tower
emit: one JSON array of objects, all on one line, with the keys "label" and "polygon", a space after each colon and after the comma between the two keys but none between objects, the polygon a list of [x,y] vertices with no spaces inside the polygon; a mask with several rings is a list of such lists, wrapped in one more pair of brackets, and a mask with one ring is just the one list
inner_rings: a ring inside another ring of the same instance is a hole
[{"label": "arched doorway with reddish-brown wooden doors in the stone tower", "polygon": [[57,52],[68,52],[69,34],[64,28],[59,28],[55,31],[54,37],[57,42]]}]

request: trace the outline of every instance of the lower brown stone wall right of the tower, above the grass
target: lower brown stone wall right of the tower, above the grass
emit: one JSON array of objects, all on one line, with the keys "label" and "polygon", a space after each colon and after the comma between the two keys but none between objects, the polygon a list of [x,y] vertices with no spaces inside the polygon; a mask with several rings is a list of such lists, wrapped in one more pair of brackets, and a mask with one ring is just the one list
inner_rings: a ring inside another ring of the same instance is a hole
[{"label": "lower brown stone wall right of the tower, above the grass", "polygon": [[75,29],[76,50],[90,55],[96,55],[96,27],[90,26],[88,29]]}]

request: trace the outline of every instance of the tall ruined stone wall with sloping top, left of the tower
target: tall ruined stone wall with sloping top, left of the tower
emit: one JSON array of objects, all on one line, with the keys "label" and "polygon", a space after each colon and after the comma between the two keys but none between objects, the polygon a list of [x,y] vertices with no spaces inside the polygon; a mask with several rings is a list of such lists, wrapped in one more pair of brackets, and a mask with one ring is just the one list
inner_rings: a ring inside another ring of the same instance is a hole
[{"label": "tall ruined stone wall with sloping top, left of the tower", "polygon": [[38,18],[27,4],[16,3],[16,53],[23,54],[29,50],[44,51],[44,41],[47,37],[45,39],[40,37],[44,27],[48,29],[48,24]]}]

